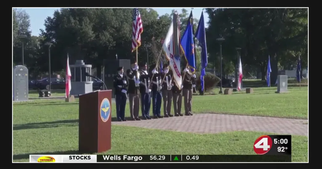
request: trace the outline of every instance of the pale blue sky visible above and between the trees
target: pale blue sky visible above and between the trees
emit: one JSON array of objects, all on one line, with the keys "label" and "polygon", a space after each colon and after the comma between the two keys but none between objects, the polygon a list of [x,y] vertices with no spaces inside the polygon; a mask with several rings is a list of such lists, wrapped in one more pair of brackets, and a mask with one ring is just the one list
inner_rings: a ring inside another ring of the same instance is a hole
[{"label": "pale blue sky visible above and between the trees", "polygon": [[[59,8],[24,8],[29,16],[30,16],[30,25],[31,25],[31,31],[33,36],[39,36],[40,31],[39,29],[45,29],[45,26],[43,25],[45,22],[45,19],[50,16],[52,17],[53,13],[55,10],[58,10]],[[166,13],[171,13],[172,9],[177,10],[179,13],[181,12],[182,8],[153,8],[158,12],[159,16],[166,14]],[[190,13],[191,8],[185,8],[188,13]],[[194,8],[192,13],[194,18],[200,19],[201,12],[203,8]],[[144,20],[144,18],[142,18]],[[208,14],[204,11],[204,21],[205,25],[208,22]],[[144,25],[143,25],[144,28]]]}]

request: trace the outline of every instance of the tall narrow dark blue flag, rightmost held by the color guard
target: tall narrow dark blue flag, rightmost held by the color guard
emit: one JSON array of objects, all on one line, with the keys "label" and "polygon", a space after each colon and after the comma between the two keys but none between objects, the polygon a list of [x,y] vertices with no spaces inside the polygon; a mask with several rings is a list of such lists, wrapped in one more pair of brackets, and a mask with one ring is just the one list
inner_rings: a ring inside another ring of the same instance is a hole
[{"label": "tall narrow dark blue flag, rightmost held by the color guard", "polygon": [[204,91],[204,76],[206,75],[205,68],[208,65],[206,32],[204,28],[204,12],[201,12],[201,17],[198,23],[195,37],[198,39],[198,45],[201,47],[201,91]]}]

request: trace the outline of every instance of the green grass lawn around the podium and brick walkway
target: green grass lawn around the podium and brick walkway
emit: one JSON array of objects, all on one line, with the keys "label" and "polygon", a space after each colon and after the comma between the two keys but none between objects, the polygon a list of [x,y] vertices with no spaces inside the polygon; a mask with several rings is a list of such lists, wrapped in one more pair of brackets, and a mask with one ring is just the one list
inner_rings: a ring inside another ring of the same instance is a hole
[{"label": "green grass lawn around the podium and brick walkway", "polygon": [[[290,86],[290,92],[283,94],[275,91],[276,87],[258,87],[253,94],[194,96],[193,113],[307,119],[307,86]],[[115,117],[115,103],[111,106]],[[127,103],[127,116],[128,109]],[[14,162],[27,162],[29,154],[77,154],[78,100],[16,102],[13,124]],[[112,125],[112,149],[102,154],[254,154],[253,143],[262,134],[270,133],[195,134]],[[292,161],[308,161],[308,137],[292,136]]]}]

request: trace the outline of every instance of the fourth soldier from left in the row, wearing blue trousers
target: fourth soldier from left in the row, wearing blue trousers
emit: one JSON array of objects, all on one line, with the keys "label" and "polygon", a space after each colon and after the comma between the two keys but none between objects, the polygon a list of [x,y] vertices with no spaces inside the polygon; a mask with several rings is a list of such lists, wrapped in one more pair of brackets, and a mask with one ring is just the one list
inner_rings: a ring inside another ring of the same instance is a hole
[{"label": "fourth soldier from left in the row, wearing blue trousers", "polygon": [[157,71],[157,68],[155,68],[156,65],[152,65],[150,67],[151,71],[151,77],[152,79],[152,112],[154,118],[163,118],[161,116],[161,100],[162,100],[162,94],[161,94],[161,73]]}]

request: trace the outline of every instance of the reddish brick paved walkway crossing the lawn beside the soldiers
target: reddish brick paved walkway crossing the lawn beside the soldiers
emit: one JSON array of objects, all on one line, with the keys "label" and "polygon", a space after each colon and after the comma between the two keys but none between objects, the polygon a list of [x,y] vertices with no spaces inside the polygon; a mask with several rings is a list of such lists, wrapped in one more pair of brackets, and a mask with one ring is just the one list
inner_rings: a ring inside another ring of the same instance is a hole
[{"label": "reddish brick paved walkway crossing the lawn beside the soldiers", "polygon": [[193,116],[183,117],[112,122],[112,124],[192,133],[221,133],[244,130],[308,136],[308,120],[276,117],[194,114]]}]

